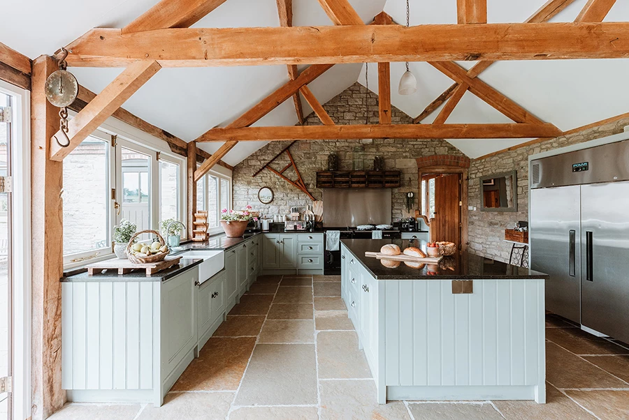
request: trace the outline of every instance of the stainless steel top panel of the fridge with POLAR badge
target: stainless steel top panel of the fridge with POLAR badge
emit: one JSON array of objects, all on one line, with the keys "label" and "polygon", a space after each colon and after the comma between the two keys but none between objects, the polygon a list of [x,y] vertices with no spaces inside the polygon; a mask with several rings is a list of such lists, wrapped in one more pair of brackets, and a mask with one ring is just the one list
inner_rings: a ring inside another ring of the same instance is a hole
[{"label": "stainless steel top panel of the fridge with POLAR badge", "polygon": [[629,180],[629,140],[532,160],[530,188]]}]

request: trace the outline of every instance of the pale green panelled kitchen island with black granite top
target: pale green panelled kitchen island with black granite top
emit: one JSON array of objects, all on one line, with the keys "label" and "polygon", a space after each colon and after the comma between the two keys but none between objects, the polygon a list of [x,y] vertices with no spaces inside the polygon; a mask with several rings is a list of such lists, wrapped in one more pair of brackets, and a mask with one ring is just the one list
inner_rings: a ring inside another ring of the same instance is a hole
[{"label": "pale green panelled kitchen island with black granite top", "polygon": [[418,268],[365,253],[387,243],[341,241],[342,297],[386,400],[545,403],[544,273],[470,253]]}]

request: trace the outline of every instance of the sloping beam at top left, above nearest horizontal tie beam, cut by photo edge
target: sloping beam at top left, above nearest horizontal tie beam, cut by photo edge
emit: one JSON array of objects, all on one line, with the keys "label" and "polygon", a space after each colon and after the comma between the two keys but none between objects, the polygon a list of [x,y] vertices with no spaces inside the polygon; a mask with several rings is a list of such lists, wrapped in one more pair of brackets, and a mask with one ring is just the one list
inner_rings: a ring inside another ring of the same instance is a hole
[{"label": "sloping beam at top left, above nearest horizontal tie beam, cut by photo edge", "polygon": [[161,0],[122,28],[122,33],[189,28],[224,2],[225,0]]}]

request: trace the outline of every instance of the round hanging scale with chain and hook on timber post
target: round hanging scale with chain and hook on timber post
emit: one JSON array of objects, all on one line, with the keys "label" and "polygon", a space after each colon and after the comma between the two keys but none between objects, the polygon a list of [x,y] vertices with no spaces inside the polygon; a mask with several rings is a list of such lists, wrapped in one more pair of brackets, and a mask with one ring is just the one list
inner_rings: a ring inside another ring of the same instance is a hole
[{"label": "round hanging scale with chain and hook on timber post", "polygon": [[76,81],[76,77],[66,70],[66,57],[68,57],[68,50],[62,48],[59,57],[59,70],[48,76],[44,87],[48,102],[55,105],[55,107],[61,108],[59,110],[59,131],[61,131],[64,138],[59,139],[58,136],[55,135],[55,140],[57,140],[57,143],[61,147],[68,147],[70,145],[67,107],[72,105],[78,95],[78,82]]}]

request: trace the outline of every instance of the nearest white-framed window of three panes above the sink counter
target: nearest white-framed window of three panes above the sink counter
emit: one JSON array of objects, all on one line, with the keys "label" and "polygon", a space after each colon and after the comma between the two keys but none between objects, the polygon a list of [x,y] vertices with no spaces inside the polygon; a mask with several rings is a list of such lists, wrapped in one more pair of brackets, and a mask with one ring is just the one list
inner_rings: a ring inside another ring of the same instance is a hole
[{"label": "nearest white-framed window of three panes above the sink counter", "polygon": [[[112,254],[113,226],[123,218],[140,230],[182,217],[185,160],[96,130],[64,160],[66,267]],[[146,234],[140,241],[150,239]]]}]

